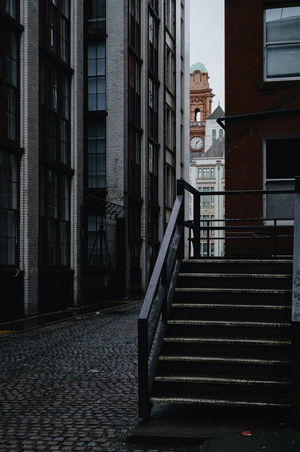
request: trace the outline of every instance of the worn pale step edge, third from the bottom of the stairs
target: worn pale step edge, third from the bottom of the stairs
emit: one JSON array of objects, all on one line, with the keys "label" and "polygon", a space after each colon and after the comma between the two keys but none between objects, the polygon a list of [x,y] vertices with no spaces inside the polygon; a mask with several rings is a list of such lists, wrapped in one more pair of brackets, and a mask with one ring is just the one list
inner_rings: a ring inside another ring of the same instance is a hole
[{"label": "worn pale step edge, third from the bottom of the stairs", "polygon": [[233,364],[263,364],[271,366],[288,366],[291,361],[282,359],[259,359],[259,358],[232,358],[223,356],[180,356],[160,355],[159,361],[184,361],[190,363],[233,363]]}]

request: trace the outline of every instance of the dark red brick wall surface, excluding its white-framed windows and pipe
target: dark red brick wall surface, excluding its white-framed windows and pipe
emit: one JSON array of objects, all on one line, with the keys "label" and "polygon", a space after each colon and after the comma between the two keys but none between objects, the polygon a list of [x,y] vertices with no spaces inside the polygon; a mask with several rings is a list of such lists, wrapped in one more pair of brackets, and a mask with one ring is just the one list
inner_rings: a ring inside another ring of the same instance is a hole
[{"label": "dark red brick wall surface, excluding its white-framed windows and pipe", "polygon": [[[225,0],[226,116],[300,107],[299,81],[263,83],[263,5],[267,3],[274,1]],[[284,3],[289,2],[280,6]],[[263,136],[295,133],[300,133],[299,114],[225,122],[225,189],[262,190]],[[227,196],[225,216],[261,218],[262,196],[239,200]],[[254,248],[263,247],[268,248],[260,242]]]}]

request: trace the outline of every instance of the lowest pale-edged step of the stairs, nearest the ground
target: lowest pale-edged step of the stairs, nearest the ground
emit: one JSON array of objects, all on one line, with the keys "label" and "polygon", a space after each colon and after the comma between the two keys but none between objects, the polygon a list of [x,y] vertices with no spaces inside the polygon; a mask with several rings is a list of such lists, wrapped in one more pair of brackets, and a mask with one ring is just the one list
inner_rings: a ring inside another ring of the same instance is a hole
[{"label": "lowest pale-edged step of the stairs, nearest the ground", "polygon": [[269,406],[269,407],[281,407],[290,408],[290,404],[283,402],[282,400],[270,399],[270,400],[254,400],[254,399],[206,399],[197,397],[150,397],[150,402],[154,403],[185,403],[195,405],[222,405],[222,406]]}]

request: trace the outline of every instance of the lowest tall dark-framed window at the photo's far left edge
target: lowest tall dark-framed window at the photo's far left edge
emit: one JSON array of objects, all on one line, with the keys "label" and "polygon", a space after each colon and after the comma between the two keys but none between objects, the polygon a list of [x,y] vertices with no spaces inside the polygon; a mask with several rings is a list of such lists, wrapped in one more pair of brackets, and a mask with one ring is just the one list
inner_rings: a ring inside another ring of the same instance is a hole
[{"label": "lowest tall dark-framed window at the photo's far left edge", "polygon": [[0,151],[0,265],[16,264],[18,161]]}]

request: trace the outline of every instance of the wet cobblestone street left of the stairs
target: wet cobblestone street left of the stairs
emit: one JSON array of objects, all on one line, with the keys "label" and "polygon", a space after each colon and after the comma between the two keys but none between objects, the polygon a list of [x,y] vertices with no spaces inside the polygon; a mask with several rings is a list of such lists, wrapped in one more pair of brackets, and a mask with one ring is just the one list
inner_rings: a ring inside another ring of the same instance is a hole
[{"label": "wet cobblestone street left of the stairs", "polygon": [[138,421],[140,309],[139,303],[1,338],[0,452],[154,449],[125,443]]}]

